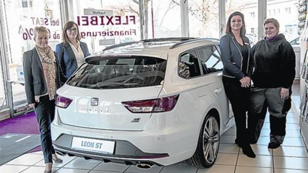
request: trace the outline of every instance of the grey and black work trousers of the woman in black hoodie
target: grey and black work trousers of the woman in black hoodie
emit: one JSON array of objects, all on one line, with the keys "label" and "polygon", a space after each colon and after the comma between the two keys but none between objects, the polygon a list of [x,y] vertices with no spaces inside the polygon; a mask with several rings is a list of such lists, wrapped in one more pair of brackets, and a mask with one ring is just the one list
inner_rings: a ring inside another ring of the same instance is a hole
[{"label": "grey and black work trousers of the woman in black hoodie", "polygon": [[[286,115],[291,108],[291,97],[281,99],[281,87],[250,90],[248,131],[250,141],[256,143],[260,137],[266,111],[270,112],[270,142],[282,144],[286,135]],[[291,95],[291,90],[289,95]]]}]

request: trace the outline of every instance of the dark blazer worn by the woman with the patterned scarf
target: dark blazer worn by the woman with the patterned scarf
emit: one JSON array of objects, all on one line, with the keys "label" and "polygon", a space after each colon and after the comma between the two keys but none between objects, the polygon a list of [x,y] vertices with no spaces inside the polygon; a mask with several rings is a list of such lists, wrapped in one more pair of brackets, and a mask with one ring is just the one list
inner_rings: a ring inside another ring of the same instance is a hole
[{"label": "dark blazer worn by the woman with the patterned scarf", "polygon": [[[56,69],[56,85],[57,88],[61,86],[61,81],[65,81],[66,77],[63,75],[59,67],[59,62],[56,56],[55,69]],[[35,103],[36,95],[43,95],[47,93],[46,81],[43,73],[43,66],[39,59],[39,54],[36,49],[26,51],[23,54],[23,71],[25,75],[25,90],[28,104]]]}]

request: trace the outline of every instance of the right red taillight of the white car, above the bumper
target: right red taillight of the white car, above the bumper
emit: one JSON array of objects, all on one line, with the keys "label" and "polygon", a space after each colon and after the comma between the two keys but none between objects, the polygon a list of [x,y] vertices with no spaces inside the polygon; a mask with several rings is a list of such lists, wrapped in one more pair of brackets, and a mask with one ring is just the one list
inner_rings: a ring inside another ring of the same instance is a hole
[{"label": "right red taillight of the white car, above the bumper", "polygon": [[122,102],[122,105],[132,113],[167,112],[175,107],[178,98],[179,94],[158,99]]}]

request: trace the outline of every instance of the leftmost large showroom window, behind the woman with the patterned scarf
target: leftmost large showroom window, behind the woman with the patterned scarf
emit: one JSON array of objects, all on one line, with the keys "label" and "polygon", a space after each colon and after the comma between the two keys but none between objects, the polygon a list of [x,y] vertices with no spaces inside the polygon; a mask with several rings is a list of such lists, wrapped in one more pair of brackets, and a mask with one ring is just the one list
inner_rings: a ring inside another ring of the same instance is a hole
[{"label": "leftmost large showroom window, behind the woman with the patterned scarf", "polygon": [[[1,3],[10,80],[22,81],[22,55],[34,48],[34,27],[45,26],[48,29],[49,46],[52,49],[55,50],[56,44],[60,42],[59,0],[4,0]],[[3,88],[0,90],[3,91]],[[26,99],[24,86],[12,84],[12,92],[14,102]]]}]

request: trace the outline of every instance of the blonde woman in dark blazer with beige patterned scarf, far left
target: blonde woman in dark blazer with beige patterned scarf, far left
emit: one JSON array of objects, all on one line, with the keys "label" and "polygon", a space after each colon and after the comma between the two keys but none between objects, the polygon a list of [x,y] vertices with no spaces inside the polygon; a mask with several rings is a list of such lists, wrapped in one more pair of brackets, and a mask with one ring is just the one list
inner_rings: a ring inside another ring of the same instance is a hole
[{"label": "blonde woman in dark blazer with beige patterned scarf, far left", "polygon": [[45,160],[44,173],[51,173],[52,161],[61,163],[51,144],[50,124],[55,117],[55,94],[61,86],[57,54],[48,46],[49,33],[43,26],[34,28],[35,47],[23,54],[27,102],[34,107]]}]

